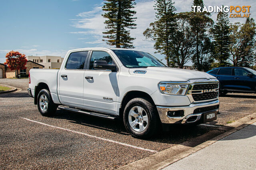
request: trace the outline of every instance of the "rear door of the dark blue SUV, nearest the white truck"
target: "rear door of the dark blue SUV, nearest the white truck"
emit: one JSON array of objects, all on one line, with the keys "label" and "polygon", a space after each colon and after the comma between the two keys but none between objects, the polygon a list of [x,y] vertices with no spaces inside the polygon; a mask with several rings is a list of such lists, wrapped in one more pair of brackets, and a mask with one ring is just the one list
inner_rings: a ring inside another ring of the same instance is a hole
[{"label": "rear door of the dark blue SUV, nearest the white truck", "polygon": [[234,76],[232,68],[220,68],[216,78],[220,81],[220,89],[234,89]]}]

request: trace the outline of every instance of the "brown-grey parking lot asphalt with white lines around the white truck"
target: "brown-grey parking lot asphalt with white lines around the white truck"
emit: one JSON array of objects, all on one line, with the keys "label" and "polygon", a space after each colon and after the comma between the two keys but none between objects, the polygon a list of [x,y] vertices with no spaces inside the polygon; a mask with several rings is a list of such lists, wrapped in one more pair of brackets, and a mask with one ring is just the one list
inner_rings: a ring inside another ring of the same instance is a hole
[{"label": "brown-grey parking lot asphalt with white lines around the white truck", "polygon": [[122,121],[57,110],[43,117],[27,94],[28,79],[0,79],[21,90],[0,94],[0,168],[114,169],[182,144],[255,113],[256,94],[220,97],[217,120],[177,126],[149,140],[131,137]]}]

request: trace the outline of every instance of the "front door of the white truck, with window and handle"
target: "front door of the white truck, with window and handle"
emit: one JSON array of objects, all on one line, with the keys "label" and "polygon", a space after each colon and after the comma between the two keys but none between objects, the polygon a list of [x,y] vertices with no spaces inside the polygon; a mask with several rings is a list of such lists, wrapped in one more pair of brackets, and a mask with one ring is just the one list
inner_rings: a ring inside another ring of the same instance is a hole
[{"label": "front door of the white truck, with window and handle", "polygon": [[95,70],[93,64],[97,60],[115,64],[106,51],[92,51],[90,64],[84,72],[84,106],[87,109],[115,114],[116,96],[119,95],[117,86],[119,72]]}]

